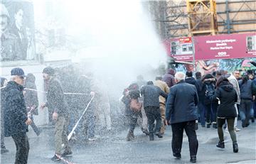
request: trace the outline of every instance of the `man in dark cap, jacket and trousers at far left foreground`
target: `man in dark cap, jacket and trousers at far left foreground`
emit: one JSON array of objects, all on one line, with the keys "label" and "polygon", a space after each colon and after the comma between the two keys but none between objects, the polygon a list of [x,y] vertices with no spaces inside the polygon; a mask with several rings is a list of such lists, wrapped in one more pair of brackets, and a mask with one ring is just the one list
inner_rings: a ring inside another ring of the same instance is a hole
[{"label": "man in dark cap, jacket and trousers at far left foreground", "polygon": [[26,132],[31,119],[26,112],[23,97],[24,71],[16,67],[11,70],[11,81],[2,90],[4,94],[4,135],[11,136],[16,145],[16,164],[28,163],[29,143]]}]

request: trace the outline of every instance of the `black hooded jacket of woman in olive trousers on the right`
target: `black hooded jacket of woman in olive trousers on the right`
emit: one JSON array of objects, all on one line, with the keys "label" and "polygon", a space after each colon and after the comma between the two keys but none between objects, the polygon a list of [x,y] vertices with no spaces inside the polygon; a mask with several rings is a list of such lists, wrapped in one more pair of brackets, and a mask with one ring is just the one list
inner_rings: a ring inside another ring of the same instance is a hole
[{"label": "black hooded jacket of woman in olive trousers on the right", "polygon": [[233,118],[237,116],[235,102],[238,101],[238,94],[235,92],[233,85],[229,82],[222,82],[215,90],[215,94],[211,99],[220,99],[217,110],[218,117]]}]

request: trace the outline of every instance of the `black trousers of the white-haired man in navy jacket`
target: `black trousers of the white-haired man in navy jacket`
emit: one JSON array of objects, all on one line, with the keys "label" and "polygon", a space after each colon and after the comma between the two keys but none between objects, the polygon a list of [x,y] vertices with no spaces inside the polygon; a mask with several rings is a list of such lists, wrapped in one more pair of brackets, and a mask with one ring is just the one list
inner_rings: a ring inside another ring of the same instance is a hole
[{"label": "black trousers of the white-haired man in navy jacket", "polygon": [[196,138],[196,121],[186,121],[176,124],[171,124],[173,133],[171,148],[175,156],[181,154],[182,140],[183,140],[183,129],[186,131],[189,143],[189,152],[191,156],[196,156],[198,151],[198,140]]}]

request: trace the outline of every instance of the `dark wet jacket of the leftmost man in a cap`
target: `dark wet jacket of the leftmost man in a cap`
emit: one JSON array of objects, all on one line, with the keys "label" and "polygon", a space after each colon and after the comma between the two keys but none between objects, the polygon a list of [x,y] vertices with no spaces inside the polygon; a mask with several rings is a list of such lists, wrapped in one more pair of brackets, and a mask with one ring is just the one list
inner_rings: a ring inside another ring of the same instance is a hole
[{"label": "dark wet jacket of the leftmost man in a cap", "polygon": [[8,82],[1,90],[1,106],[4,109],[4,136],[26,133],[28,119],[26,104],[23,97],[23,86],[14,81]]}]

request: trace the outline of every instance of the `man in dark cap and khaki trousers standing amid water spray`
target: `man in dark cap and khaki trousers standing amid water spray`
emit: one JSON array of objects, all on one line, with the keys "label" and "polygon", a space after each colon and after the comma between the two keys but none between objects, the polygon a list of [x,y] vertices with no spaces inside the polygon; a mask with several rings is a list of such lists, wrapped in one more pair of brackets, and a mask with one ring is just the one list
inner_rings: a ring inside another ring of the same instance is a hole
[{"label": "man in dark cap and khaki trousers standing amid water spray", "polygon": [[57,155],[60,155],[61,145],[64,143],[65,151],[61,156],[71,155],[72,151],[68,145],[68,123],[69,112],[68,104],[65,102],[63,88],[60,82],[54,77],[54,69],[46,67],[43,69],[43,79],[48,81],[48,90],[46,99],[47,102],[41,105],[41,108],[48,107],[53,110],[53,121],[55,121],[55,155],[51,160],[60,160]]}]

